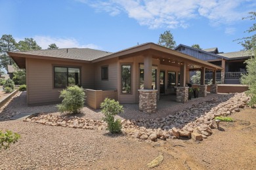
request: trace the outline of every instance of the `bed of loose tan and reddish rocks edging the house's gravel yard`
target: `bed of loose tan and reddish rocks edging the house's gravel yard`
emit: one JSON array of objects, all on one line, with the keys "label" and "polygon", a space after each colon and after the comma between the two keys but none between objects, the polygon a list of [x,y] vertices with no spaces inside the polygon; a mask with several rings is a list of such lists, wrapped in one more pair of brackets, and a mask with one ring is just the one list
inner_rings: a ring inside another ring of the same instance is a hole
[{"label": "bed of loose tan and reddish rocks edging the house's gravel yard", "polygon": [[[234,95],[234,96],[233,96]],[[122,131],[129,137],[142,140],[157,141],[191,137],[195,141],[206,139],[215,128],[216,116],[228,116],[240,109],[247,107],[249,97],[245,93],[232,93],[223,97],[213,98],[210,101],[193,105],[168,115],[165,118],[121,120]],[[219,103],[219,104],[218,104]],[[32,118],[26,118],[26,122],[35,122],[48,126],[62,126],[81,129],[106,129],[107,124],[102,120],[89,120],[77,116],[53,116],[51,114],[39,114]]]}]

